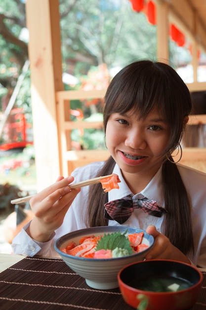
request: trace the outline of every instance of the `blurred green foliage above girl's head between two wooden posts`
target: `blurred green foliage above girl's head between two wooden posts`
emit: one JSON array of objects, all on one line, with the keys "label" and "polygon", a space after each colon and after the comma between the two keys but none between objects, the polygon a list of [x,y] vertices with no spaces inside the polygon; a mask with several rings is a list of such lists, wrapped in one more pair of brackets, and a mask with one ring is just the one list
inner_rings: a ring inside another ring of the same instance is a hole
[{"label": "blurred green foliage above girl's head between two wooden posts", "polygon": [[60,0],[63,69],[75,76],[91,65],[124,66],[138,58],[156,58],[156,26],[128,0]]}]

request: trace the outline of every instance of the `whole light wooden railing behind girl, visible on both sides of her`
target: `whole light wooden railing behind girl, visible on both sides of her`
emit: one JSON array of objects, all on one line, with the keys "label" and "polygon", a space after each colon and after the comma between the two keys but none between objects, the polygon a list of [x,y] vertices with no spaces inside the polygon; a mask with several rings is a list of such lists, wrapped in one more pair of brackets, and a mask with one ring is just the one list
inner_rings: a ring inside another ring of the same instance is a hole
[{"label": "whole light wooden railing behind girl, visible on both sides of her", "polygon": [[[200,83],[201,89],[206,83]],[[199,85],[199,84],[198,84]],[[194,87],[194,86],[193,86]],[[193,87],[192,90],[193,90]],[[200,86],[199,86],[200,89]],[[109,157],[107,150],[72,150],[71,131],[73,129],[102,128],[102,122],[71,121],[70,101],[80,99],[104,98],[105,90],[101,91],[61,91],[56,93],[57,102],[57,130],[59,142],[60,173],[71,172],[87,163],[106,160]],[[191,115],[188,125],[206,124],[206,115]],[[206,172],[206,148],[184,148],[181,163]]]}]

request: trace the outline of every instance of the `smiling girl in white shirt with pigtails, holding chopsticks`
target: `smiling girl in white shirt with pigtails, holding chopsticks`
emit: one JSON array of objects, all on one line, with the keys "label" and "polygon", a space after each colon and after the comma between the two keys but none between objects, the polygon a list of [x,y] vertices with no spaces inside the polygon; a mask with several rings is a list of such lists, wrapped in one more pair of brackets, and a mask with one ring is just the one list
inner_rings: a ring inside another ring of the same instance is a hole
[{"label": "smiling girl in white shirt with pigtails, holding chopsticks", "polygon": [[[126,225],[154,236],[146,259],[206,267],[206,174],[176,163],[191,109],[187,86],[167,64],[142,60],[124,67],[105,95],[105,142],[111,156],[76,169],[70,177],[60,176],[31,199],[34,218],[13,239],[14,254],[56,256],[53,244],[68,232]],[[68,186],[111,173],[121,183],[108,194],[99,183],[72,190]],[[104,205],[128,195],[155,201],[162,214],[134,208],[128,219],[118,222]]]}]

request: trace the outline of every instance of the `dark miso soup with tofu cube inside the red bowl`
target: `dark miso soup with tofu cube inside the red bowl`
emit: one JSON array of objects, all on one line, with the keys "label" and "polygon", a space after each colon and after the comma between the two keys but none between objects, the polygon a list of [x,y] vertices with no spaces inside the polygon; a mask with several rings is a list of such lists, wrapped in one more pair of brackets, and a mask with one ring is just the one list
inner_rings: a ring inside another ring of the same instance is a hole
[{"label": "dark miso soup with tofu cube inside the red bowl", "polygon": [[175,277],[147,277],[134,279],[129,286],[142,291],[150,292],[178,292],[186,290],[193,285],[188,280]]}]

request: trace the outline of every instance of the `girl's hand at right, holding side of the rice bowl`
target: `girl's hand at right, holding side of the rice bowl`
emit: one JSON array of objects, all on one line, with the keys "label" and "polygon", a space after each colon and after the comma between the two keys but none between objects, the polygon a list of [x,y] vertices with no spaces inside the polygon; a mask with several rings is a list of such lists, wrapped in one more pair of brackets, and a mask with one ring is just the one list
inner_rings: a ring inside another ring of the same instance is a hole
[{"label": "girl's hand at right, holding side of the rice bowl", "polygon": [[148,226],[146,232],[155,239],[153,249],[146,255],[145,259],[172,259],[191,264],[190,260],[169,239],[159,233],[155,226]]}]

